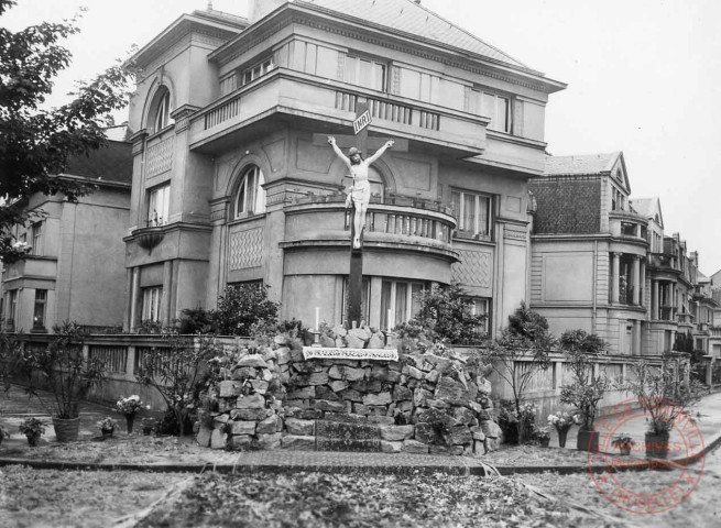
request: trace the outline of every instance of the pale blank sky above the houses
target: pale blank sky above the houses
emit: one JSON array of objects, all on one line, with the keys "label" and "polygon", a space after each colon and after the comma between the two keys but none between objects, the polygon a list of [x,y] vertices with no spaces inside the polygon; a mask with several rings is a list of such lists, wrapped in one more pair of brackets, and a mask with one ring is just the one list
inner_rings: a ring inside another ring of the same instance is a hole
[{"label": "pale blank sky above the houses", "polygon": [[[383,0],[379,0],[383,1]],[[18,30],[88,8],[67,41],[73,63],[52,105],[207,0],[19,0],[0,18]],[[632,199],[659,197],[665,233],[721,270],[721,1],[422,0],[423,6],[547,77],[547,150],[623,151]],[[248,0],[212,0],[245,15]],[[122,120],[122,117],[120,118]]]}]

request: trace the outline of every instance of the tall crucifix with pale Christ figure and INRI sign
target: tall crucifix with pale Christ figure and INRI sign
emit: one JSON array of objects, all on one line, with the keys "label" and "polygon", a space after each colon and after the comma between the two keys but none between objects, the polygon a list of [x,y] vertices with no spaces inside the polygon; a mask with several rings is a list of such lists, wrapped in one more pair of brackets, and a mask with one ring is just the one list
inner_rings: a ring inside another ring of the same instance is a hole
[{"label": "tall crucifix with pale Christ figure and INRI sign", "polygon": [[[368,168],[383,153],[394,146],[394,141],[386,141],[371,157],[365,158],[368,153],[368,125],[371,122],[371,114],[365,102],[359,102],[356,107],[356,120],[353,131],[354,143],[346,156],[338,141],[347,143],[348,136],[328,136],[328,143],[332,146],[336,155],[348,166],[353,178],[353,185],[346,198],[346,208],[352,207],[350,228],[350,275],[348,280],[348,321],[353,328],[362,323],[362,299],[363,299],[363,228],[365,227],[365,213],[371,197],[370,182],[368,180]],[[407,142],[403,142],[402,150],[407,150]]]}]

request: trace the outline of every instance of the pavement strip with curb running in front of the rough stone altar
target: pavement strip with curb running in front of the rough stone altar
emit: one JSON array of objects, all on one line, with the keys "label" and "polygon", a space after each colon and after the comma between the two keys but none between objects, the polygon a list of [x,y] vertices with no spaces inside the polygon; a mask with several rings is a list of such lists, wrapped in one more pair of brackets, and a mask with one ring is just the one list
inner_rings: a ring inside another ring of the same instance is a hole
[{"label": "pavement strip with curb running in front of the rough stone altar", "polygon": [[[558,471],[577,473],[589,470],[588,453],[576,450],[577,428],[568,436],[566,448],[558,448],[558,439],[551,437],[550,448],[538,447],[503,447],[481,458],[448,457],[408,453],[365,453],[365,452],[320,452],[320,451],[247,451],[227,452],[198,447],[192,438],[176,439],[172,437],[128,436],[124,430],[116,432],[108,441],[99,441],[96,422],[107,416],[122,418],[111,408],[86,403],[80,413],[80,439],[78,442],[59,444],[55,441],[52,420],[42,404],[36,399],[28,399],[21,387],[13,386],[10,393],[0,399],[0,422],[11,432],[11,438],[0,446],[0,466],[23,463],[34,468],[45,469],[95,469],[95,470],[139,470],[163,472],[201,472],[220,471],[227,473],[295,472],[325,471],[373,473],[433,473],[482,475],[489,464],[501,474],[539,473]],[[50,394],[42,396],[50,403]],[[698,416],[697,416],[698,414]],[[43,419],[47,427],[41,447],[29,448],[25,438],[18,432],[18,425],[26,417]],[[703,398],[693,408],[707,451],[721,443],[721,393]],[[121,422],[122,428],[122,420]],[[613,420],[609,420],[613,421]],[[599,420],[597,420],[597,424]],[[648,466],[648,460],[643,451],[645,421],[633,419],[619,428],[619,432],[627,432],[638,442],[631,458],[624,458],[626,463],[635,461],[635,469]],[[603,446],[602,432],[600,444]],[[671,442],[681,441],[678,431],[671,435]],[[615,451],[615,450],[614,450]],[[697,450],[698,451],[698,450]],[[684,457],[676,457],[676,462],[686,464]],[[598,462],[598,461],[597,461]],[[594,462],[594,465],[598,463]],[[634,469],[634,468],[632,468]]]}]

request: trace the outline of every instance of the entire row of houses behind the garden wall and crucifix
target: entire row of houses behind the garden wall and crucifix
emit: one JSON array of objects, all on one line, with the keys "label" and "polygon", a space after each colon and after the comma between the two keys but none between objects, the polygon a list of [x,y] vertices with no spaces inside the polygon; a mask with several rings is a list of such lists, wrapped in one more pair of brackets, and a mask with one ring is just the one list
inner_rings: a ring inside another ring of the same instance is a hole
[{"label": "entire row of houses behind the garden wall and crucifix", "polygon": [[721,272],[702,275],[667,234],[658,198],[632,197],[623,154],[547,154],[545,109],[564,82],[420,1],[249,3],[248,18],[183,14],[135,54],[127,127],[59,175],[97,190],[28,200],[44,213],[13,233],[29,253],[3,266],[6,328],[171,326],[243,283],[270,286],[285,319],[347,320],[350,179],[327,136],[357,145],[365,103],[369,154],[395,140],[369,175],[371,326],[455,282],[491,336],[525,301],[613,354],[660,355],[690,336],[721,358]]}]

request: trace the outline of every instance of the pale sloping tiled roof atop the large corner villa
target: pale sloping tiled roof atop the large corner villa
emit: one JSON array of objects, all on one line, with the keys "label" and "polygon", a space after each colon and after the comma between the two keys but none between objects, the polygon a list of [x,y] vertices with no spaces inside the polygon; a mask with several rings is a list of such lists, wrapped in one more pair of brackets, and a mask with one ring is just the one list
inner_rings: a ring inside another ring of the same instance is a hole
[{"label": "pale sloping tiled roof atop the large corner villa", "polygon": [[367,23],[406,33],[412,37],[434,41],[444,46],[471,52],[533,72],[520,61],[413,0],[295,0],[294,3],[340,12]]}]

